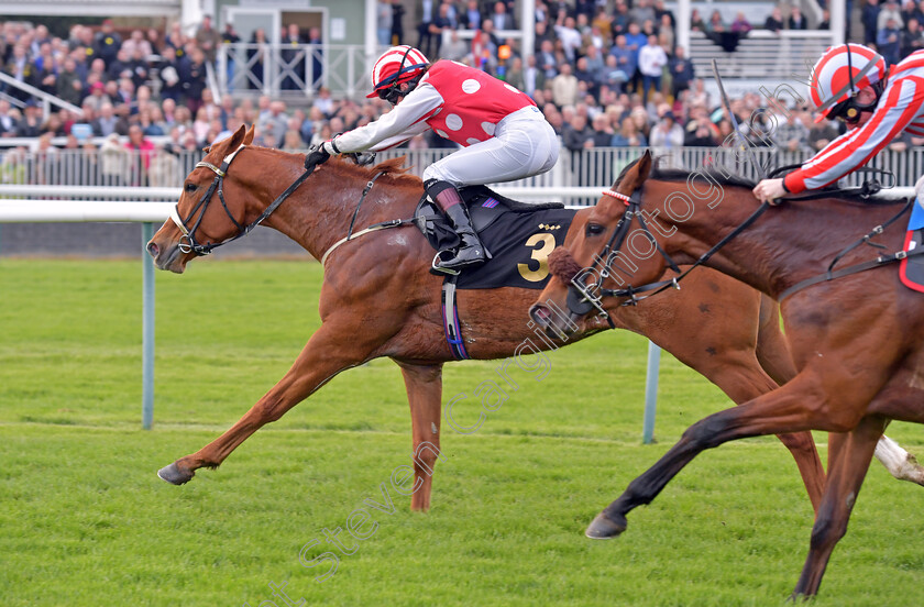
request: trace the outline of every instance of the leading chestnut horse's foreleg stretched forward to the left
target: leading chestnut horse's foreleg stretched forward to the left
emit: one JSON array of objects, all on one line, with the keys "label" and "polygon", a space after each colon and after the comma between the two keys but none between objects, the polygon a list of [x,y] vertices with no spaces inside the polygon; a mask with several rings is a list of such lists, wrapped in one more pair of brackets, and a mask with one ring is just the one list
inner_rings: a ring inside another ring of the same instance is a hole
[{"label": "leading chestnut horse's foreleg stretched forward to the left", "polygon": [[248,437],[283,417],[341,371],[365,361],[381,343],[374,331],[355,331],[332,322],[321,324],[279,383],[234,426],[196,453],[161,468],[157,475],[182,485],[193,478],[196,470],[218,466]]}]

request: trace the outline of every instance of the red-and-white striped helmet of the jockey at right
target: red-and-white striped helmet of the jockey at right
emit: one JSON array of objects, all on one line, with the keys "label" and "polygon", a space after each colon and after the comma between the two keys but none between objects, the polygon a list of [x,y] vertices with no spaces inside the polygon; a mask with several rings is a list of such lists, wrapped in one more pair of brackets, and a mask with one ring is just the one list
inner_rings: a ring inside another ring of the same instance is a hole
[{"label": "red-and-white striped helmet of the jockey at right", "polygon": [[877,102],[886,82],[886,59],[861,44],[831,46],[812,68],[812,84],[809,96],[818,108],[815,122],[823,119],[846,117],[849,121],[859,112],[871,110],[876,104],[861,106],[855,96],[872,86]]}]

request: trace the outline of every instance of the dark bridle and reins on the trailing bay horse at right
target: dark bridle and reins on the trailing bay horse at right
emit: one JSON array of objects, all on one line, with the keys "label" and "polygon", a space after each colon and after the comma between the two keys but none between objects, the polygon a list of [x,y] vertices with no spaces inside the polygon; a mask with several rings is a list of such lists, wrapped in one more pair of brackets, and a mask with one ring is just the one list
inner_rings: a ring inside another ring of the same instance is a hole
[{"label": "dark bridle and reins on the trailing bay horse at right", "polygon": [[[622,306],[636,306],[642,299],[648,299],[652,295],[657,295],[662,290],[668,288],[680,289],[680,280],[682,280],[691,271],[693,271],[696,266],[700,266],[706,263],[710,257],[712,257],[719,249],[728,244],[729,241],[738,236],[743,231],[748,229],[757,218],[759,218],[763,212],[770,208],[768,202],[763,202],[757,210],[750,214],[740,225],[735,228],[732,232],[729,232],[725,238],[718,241],[712,249],[703,253],[703,255],[697,258],[692,266],[686,268],[686,271],[681,272],[678,264],[671,258],[671,256],[664,251],[660,244],[658,244],[658,240],[651,234],[651,231],[648,229],[648,225],[645,222],[645,216],[641,211],[641,188],[636,189],[632,191],[631,196],[626,196],[624,194],[619,194],[612,190],[604,190],[604,195],[610,196],[618,200],[622,200],[623,203],[627,207],[626,212],[619,219],[619,222],[616,224],[616,228],[613,229],[613,234],[609,236],[609,240],[603,247],[600,254],[594,256],[594,263],[590,266],[590,268],[585,268],[578,273],[572,279],[571,284],[568,287],[568,298],[566,305],[569,311],[578,316],[585,316],[592,309],[596,308],[600,312],[600,316],[606,317],[609,320],[609,313],[603,307],[603,298],[604,297],[618,297],[618,298],[627,298]],[[679,274],[669,280],[658,280],[656,283],[649,283],[647,285],[642,285],[640,287],[632,287],[631,285],[622,288],[622,289],[607,289],[602,287],[603,280],[609,277],[610,275],[610,256],[617,254],[623,244],[626,241],[626,236],[629,234],[629,230],[631,229],[632,221],[638,220],[638,223],[641,225],[642,232],[647,235],[647,238],[654,244],[658,252],[661,256],[664,257],[667,261],[668,267]],[[597,267],[600,271],[597,272]],[[594,288],[590,288],[586,284],[587,275],[592,273],[597,273],[600,275],[600,283],[592,285]],[[652,291],[645,297],[637,297],[639,294]],[[609,320],[610,325],[613,321]]]}]

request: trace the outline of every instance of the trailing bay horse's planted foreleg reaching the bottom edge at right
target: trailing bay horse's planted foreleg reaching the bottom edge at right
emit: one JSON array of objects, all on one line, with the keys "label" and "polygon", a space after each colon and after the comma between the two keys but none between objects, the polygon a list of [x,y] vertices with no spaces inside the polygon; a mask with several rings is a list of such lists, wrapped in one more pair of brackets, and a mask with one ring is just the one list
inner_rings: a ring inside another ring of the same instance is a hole
[{"label": "trailing bay horse's planted foreleg reaching the bottom edge at right", "polygon": [[831,435],[836,455],[828,466],[825,497],[812,528],[809,556],[792,593],[794,599],[817,594],[831,553],[847,532],[850,511],[860,493],[877,441],[884,429],[884,418],[870,416],[864,418],[849,433]]}]

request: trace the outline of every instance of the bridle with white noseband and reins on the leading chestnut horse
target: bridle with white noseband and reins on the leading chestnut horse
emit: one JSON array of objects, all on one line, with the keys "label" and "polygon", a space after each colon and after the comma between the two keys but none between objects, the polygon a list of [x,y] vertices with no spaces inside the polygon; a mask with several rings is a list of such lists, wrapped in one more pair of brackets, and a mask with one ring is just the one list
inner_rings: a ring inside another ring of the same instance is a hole
[{"label": "bridle with white noseband and reins on the leading chestnut horse", "polygon": [[[221,166],[215,166],[211,163],[207,163],[201,161],[196,163],[196,168],[208,168],[212,173],[215,173],[215,179],[212,179],[209,189],[206,190],[206,194],[193,207],[193,210],[189,211],[189,214],[186,219],[179,217],[179,202],[177,202],[174,208],[170,210],[170,219],[176,227],[179,228],[179,231],[183,232],[183,235],[179,238],[178,247],[183,253],[195,253],[196,255],[208,255],[219,246],[228,244],[229,242],[233,242],[238,239],[241,239],[248,235],[254,228],[263,223],[263,221],[273,214],[273,212],[279,208],[286,198],[288,198],[292,192],[298,188],[308,178],[311,173],[315,172],[316,165],[306,165],[305,173],[302,173],[298,179],[293,181],[293,184],[286,188],[286,190],[280,194],[266,209],[257,217],[255,220],[251,221],[246,225],[241,225],[241,223],[234,219],[234,216],[231,214],[231,210],[228,208],[228,203],[224,201],[224,177],[228,175],[228,167],[231,165],[231,162],[238,156],[238,154],[246,147],[246,144],[242,143],[237,150],[224,156],[221,161]],[[202,223],[202,218],[206,216],[206,210],[209,207],[209,202],[211,202],[212,196],[218,192],[218,199],[221,201],[221,207],[224,209],[224,213],[234,223],[234,227],[238,228],[238,233],[227,239],[222,242],[217,243],[206,243],[200,244],[196,242],[196,231],[199,229],[199,225]],[[193,223],[190,228],[189,224]]]}]

